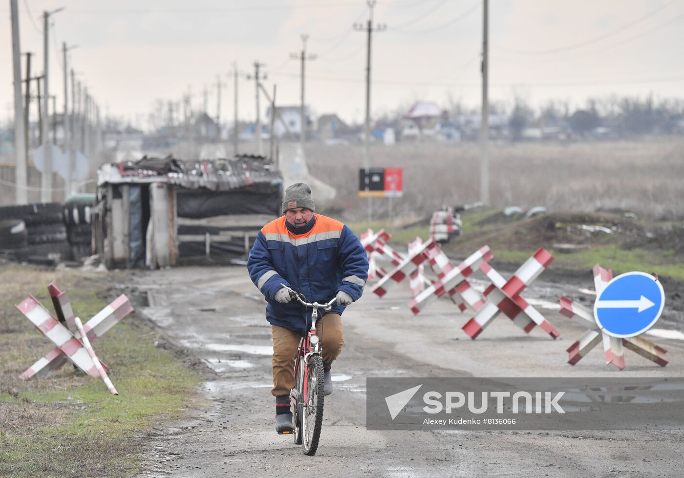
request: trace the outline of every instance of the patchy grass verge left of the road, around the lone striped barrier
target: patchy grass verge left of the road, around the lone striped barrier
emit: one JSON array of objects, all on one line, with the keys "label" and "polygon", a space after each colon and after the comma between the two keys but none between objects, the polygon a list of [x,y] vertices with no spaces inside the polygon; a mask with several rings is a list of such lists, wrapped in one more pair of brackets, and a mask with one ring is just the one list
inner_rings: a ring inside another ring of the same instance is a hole
[{"label": "patchy grass verge left of the road, around the lone striped barrier", "polygon": [[[85,322],[116,297],[126,272],[53,271],[0,263],[0,476],[122,477],[140,471],[140,444],[153,425],[200,405],[200,375],[167,349],[135,312],[93,343],[120,395],[66,364],[23,382],[51,343],[14,308],[29,293],[51,310],[47,284],[66,290]],[[163,340],[163,339],[162,339]]]}]

